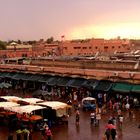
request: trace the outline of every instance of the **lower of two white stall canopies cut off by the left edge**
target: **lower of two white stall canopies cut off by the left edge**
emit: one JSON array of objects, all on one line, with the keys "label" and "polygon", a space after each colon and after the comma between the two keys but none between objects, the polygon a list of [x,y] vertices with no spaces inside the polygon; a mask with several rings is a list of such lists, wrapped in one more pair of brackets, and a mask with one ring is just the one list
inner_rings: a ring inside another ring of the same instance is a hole
[{"label": "lower of two white stall canopies cut off by the left edge", "polygon": [[11,107],[19,106],[20,104],[14,102],[0,102],[0,107],[10,110]]}]

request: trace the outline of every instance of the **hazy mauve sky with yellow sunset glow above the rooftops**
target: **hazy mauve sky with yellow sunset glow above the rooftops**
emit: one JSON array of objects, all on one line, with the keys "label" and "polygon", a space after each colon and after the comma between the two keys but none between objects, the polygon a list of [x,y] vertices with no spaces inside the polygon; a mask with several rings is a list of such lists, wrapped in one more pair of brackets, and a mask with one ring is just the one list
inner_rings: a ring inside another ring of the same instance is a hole
[{"label": "hazy mauve sky with yellow sunset glow above the rooftops", "polygon": [[140,0],[0,0],[0,40],[140,38]]}]

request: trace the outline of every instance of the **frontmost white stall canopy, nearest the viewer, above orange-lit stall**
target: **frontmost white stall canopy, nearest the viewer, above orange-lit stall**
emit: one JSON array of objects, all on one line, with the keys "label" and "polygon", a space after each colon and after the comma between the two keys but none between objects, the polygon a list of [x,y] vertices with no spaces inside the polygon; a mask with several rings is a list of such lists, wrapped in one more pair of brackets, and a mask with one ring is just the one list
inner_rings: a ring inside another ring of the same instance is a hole
[{"label": "frontmost white stall canopy, nearest the viewer, above orange-lit stall", "polygon": [[17,106],[17,107],[11,107],[10,111],[17,112],[17,113],[32,113],[35,110],[41,110],[45,107],[39,106],[39,105],[24,105],[24,106]]}]

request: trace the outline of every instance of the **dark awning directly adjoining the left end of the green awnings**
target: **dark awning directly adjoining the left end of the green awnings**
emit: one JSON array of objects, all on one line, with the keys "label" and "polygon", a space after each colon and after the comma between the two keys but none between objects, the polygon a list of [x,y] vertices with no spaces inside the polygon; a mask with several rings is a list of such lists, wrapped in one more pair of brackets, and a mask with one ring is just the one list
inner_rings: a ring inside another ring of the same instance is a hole
[{"label": "dark awning directly adjoining the left end of the green awnings", "polygon": [[109,91],[113,83],[111,81],[99,81],[98,85],[95,87],[95,90],[98,91]]}]

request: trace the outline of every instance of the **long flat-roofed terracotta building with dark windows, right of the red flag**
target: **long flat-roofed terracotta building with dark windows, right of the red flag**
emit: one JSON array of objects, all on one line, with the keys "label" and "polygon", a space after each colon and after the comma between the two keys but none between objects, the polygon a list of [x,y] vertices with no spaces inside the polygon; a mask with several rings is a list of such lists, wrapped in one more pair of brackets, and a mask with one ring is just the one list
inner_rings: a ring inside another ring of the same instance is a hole
[{"label": "long flat-roofed terracotta building with dark windows, right of the red flag", "polygon": [[129,52],[133,49],[129,40],[119,38],[64,41],[61,48],[63,55],[94,55],[96,52]]}]

